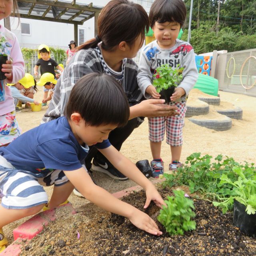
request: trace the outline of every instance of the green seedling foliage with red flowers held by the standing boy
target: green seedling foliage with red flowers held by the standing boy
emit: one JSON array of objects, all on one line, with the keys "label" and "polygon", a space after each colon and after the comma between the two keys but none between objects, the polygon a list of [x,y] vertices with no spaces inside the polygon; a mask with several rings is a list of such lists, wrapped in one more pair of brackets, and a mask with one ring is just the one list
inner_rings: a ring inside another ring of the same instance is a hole
[{"label": "green seedling foliage with red flowers held by the standing boy", "polygon": [[156,74],[153,75],[156,79],[153,81],[153,85],[156,87],[156,91],[159,93],[162,89],[166,90],[171,86],[177,87],[182,80],[182,70],[184,68],[172,69],[169,64],[163,64],[156,68]]}]

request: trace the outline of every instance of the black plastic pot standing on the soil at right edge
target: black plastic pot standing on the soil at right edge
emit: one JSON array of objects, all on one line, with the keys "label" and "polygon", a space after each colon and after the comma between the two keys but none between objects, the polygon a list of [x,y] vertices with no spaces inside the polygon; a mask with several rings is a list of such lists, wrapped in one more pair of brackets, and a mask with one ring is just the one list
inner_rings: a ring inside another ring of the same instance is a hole
[{"label": "black plastic pot standing on the soil at right edge", "polygon": [[244,204],[234,200],[233,222],[248,236],[256,236],[256,214],[247,214]]}]

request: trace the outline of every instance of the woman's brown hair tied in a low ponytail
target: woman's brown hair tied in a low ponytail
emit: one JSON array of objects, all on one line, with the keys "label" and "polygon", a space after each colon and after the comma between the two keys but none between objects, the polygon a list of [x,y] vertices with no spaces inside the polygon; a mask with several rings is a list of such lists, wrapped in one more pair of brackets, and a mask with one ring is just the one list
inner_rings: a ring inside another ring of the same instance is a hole
[{"label": "woman's brown hair tied in a low ponytail", "polygon": [[78,50],[95,48],[102,41],[102,49],[112,50],[125,41],[133,46],[138,36],[144,41],[145,29],[149,29],[148,14],[140,4],[128,0],[112,0],[100,12],[98,18],[98,39],[86,41]]}]

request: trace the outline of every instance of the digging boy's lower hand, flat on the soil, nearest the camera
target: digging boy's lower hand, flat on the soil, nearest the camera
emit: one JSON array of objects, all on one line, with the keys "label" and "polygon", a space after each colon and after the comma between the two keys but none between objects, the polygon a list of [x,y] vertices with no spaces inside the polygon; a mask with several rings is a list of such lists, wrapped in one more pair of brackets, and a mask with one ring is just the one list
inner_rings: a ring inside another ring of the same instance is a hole
[{"label": "digging boy's lower hand, flat on the soil, nearest the camera", "polygon": [[136,212],[132,214],[129,220],[132,222],[132,224],[134,224],[134,226],[140,228],[141,230],[145,230],[152,235],[162,235],[162,232],[159,230],[156,222],[154,222],[154,220],[152,220],[148,214],[141,212],[138,209],[136,209]]}]

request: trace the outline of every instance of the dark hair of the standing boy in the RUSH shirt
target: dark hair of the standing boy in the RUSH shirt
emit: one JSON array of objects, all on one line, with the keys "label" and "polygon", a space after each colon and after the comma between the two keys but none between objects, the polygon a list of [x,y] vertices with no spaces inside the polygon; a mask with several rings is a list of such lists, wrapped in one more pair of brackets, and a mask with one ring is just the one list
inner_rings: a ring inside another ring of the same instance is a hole
[{"label": "dark hair of the standing boy in the RUSH shirt", "polygon": [[186,20],[186,6],[182,0],[155,0],[150,8],[149,23],[177,22],[182,27]]}]

